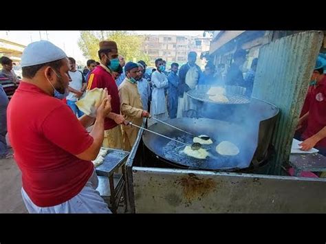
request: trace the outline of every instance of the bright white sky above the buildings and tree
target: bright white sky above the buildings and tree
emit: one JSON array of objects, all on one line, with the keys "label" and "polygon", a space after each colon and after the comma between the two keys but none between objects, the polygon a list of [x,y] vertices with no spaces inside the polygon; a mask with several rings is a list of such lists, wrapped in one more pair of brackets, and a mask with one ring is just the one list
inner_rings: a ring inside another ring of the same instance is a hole
[{"label": "bright white sky above the buildings and tree", "polygon": [[[135,34],[182,34],[189,36],[202,36],[204,31],[133,31]],[[13,41],[22,45],[28,45],[33,41],[48,40],[61,47],[67,54],[72,56],[77,62],[86,63],[87,58],[83,56],[80,51],[77,41],[80,36],[80,32],[73,31],[0,31],[0,38]]]}]

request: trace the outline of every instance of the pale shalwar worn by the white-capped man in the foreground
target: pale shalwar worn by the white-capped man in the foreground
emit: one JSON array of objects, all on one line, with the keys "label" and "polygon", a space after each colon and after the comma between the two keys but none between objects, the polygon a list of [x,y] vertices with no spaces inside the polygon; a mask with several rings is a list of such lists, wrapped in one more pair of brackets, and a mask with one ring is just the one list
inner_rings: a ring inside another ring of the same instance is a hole
[{"label": "pale shalwar worn by the white-capped man in the foreground", "polygon": [[36,206],[23,188],[21,195],[28,212],[32,214],[111,214],[107,203],[95,190],[98,187],[98,177],[95,169],[84,188],[72,199],[52,207],[41,208]]}]

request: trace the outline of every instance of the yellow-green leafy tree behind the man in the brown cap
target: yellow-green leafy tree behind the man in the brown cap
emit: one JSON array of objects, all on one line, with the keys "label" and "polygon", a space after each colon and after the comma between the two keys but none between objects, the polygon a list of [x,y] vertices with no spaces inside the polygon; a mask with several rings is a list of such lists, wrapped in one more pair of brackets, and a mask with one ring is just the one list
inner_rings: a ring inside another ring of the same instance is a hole
[{"label": "yellow-green leafy tree behind the man in the brown cap", "polygon": [[86,58],[98,60],[98,43],[103,40],[116,41],[118,53],[124,56],[126,62],[144,60],[150,62],[148,55],[142,52],[144,36],[135,35],[124,31],[82,31],[78,40],[78,46]]}]

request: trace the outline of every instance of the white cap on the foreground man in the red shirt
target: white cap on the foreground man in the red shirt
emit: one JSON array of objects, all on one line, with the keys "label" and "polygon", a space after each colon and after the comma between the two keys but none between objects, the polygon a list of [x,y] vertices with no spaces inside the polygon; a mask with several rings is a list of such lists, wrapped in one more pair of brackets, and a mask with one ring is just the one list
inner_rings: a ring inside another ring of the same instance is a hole
[{"label": "white cap on the foreground man in the red shirt", "polygon": [[29,67],[33,65],[41,65],[56,60],[66,58],[67,54],[63,49],[57,47],[50,41],[35,41],[25,47],[21,55],[21,67]]}]

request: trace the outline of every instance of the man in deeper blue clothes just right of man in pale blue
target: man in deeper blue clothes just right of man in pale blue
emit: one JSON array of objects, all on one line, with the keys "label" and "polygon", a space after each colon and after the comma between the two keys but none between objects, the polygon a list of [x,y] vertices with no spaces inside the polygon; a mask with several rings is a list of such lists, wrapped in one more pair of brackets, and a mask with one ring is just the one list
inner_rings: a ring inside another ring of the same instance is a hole
[{"label": "man in deeper blue clothes just right of man in pale blue", "polygon": [[171,119],[177,118],[177,87],[179,85],[179,76],[177,76],[177,68],[179,65],[173,63],[171,65],[171,73],[168,76],[168,111]]}]

